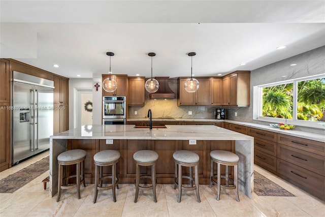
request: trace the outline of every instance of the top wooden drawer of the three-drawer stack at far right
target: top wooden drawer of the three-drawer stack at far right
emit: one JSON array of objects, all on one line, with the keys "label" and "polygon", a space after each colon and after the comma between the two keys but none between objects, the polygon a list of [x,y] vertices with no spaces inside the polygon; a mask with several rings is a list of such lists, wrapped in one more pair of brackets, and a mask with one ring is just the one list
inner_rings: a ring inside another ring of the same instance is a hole
[{"label": "top wooden drawer of the three-drawer stack at far right", "polygon": [[325,156],[324,142],[278,134],[278,143]]}]

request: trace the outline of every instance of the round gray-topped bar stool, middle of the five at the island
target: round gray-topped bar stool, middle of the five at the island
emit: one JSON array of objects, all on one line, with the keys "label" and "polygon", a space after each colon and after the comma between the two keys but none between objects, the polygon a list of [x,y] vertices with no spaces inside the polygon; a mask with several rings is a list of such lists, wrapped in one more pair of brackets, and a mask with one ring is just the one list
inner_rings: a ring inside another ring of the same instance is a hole
[{"label": "round gray-topped bar stool, middle of the five at the island", "polygon": [[[139,189],[150,190],[152,189],[153,201],[157,202],[156,197],[156,162],[158,154],[152,150],[140,150],[133,154],[133,159],[136,163],[136,197],[134,202],[138,201]],[[151,166],[151,175],[140,176],[140,166]],[[140,178],[151,178],[151,185],[148,187],[140,186]]]}]

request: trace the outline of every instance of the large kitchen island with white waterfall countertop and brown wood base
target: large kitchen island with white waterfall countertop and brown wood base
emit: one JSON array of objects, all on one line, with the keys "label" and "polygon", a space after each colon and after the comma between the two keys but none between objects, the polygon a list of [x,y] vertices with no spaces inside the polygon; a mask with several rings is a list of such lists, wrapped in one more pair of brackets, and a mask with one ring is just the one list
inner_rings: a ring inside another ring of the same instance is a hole
[{"label": "large kitchen island with white waterfall countertop and brown wood base", "polygon": [[[134,183],[136,170],[133,153],[143,149],[158,153],[157,182],[173,183],[173,153],[191,150],[200,156],[200,184],[208,184],[210,180],[210,151],[228,150],[239,156],[239,190],[249,198],[253,191],[253,137],[208,125],[167,125],[166,128],[152,130],[136,128],[135,125],[87,125],[50,137],[50,197],[57,193],[57,156],[63,151],[77,148],[87,152],[86,183],[94,183],[94,154],[105,149],[118,150],[121,154],[117,174],[120,183]],[[106,169],[104,173],[110,173],[109,168]],[[150,173],[150,169],[142,168],[141,173]]]}]

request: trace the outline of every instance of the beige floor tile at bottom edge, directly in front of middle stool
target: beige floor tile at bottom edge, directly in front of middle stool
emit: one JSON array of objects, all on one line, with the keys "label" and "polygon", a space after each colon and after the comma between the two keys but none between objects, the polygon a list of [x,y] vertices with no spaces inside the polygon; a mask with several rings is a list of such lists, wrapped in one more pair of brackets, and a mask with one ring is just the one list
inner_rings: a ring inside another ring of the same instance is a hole
[{"label": "beige floor tile at bottom edge, directly in front of middle stool", "polygon": [[168,216],[165,194],[157,193],[157,202],[153,201],[152,193],[139,194],[138,202],[134,202],[135,193],[127,193],[121,216]]}]

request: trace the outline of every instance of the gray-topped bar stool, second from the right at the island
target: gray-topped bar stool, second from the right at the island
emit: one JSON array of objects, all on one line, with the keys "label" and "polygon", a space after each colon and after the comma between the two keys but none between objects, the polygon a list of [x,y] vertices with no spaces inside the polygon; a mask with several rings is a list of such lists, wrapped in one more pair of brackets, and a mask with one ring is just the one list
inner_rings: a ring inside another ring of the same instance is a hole
[{"label": "gray-topped bar stool, second from the right at the island", "polygon": [[[198,174],[198,165],[200,157],[198,154],[188,151],[188,150],[179,150],[173,153],[173,158],[175,161],[175,185],[174,189],[178,186],[178,202],[181,202],[182,190],[185,191],[194,191],[196,190],[196,195],[198,202],[200,203],[200,194],[199,194],[199,174]],[[178,165],[178,168],[177,168]],[[185,176],[182,173],[182,166],[189,167],[189,176]],[[193,177],[192,177],[192,167],[194,167],[194,180],[195,186],[193,186]],[[178,174],[177,174],[178,172]],[[187,178],[190,180],[190,187],[185,187],[182,185],[182,178]]]}]

